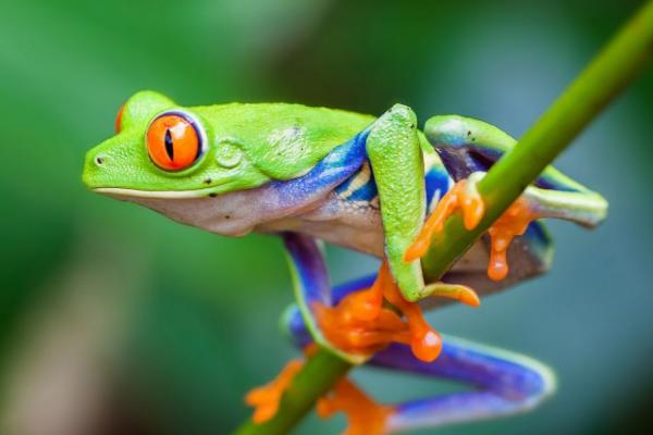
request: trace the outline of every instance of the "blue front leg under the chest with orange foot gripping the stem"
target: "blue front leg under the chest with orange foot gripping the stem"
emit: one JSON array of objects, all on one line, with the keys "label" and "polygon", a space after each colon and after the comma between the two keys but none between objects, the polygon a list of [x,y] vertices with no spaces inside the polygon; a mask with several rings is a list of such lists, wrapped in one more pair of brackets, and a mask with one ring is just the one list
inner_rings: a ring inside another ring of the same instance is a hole
[{"label": "blue front leg under the chest with orange foot gripping the stem", "polygon": [[[424,360],[438,356],[440,336],[424,321],[420,307],[402,297],[385,262],[372,281],[356,282],[343,294],[332,290],[315,239],[295,233],[285,233],[283,238],[297,306],[318,345],[355,364],[393,341],[411,345]],[[449,286],[451,293],[465,289]],[[383,306],[384,300],[390,304]]]}]

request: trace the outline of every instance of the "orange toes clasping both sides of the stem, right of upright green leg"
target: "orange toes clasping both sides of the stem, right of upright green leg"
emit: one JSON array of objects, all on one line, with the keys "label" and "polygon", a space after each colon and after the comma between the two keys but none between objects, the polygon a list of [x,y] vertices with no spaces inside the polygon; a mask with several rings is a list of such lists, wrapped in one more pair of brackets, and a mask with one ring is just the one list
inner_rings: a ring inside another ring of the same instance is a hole
[{"label": "orange toes clasping both sides of the stem, right of upright green leg", "polygon": [[[429,250],[433,236],[444,227],[444,222],[457,210],[463,212],[463,221],[467,229],[473,229],[485,212],[485,206],[478,190],[477,179],[461,179],[452,187],[438,203],[435,211],[424,223],[420,234],[406,250],[404,260],[415,261]],[[540,217],[531,210],[523,198],[517,199],[488,229],[491,239],[490,263],[488,276],[501,281],[508,274],[506,251],[515,236],[523,234],[528,224]]]}]

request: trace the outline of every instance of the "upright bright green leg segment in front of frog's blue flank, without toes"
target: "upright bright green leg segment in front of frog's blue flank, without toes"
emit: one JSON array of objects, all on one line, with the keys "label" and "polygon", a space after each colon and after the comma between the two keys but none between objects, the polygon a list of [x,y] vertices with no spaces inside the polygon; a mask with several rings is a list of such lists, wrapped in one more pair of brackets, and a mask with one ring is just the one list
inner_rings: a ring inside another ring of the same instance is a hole
[{"label": "upright bright green leg segment in front of frog's blue flank, without toes", "polygon": [[404,261],[426,212],[422,151],[412,110],[396,104],[385,112],[371,127],[366,149],[379,190],[390,270],[404,297],[417,300],[423,288],[420,262]]}]

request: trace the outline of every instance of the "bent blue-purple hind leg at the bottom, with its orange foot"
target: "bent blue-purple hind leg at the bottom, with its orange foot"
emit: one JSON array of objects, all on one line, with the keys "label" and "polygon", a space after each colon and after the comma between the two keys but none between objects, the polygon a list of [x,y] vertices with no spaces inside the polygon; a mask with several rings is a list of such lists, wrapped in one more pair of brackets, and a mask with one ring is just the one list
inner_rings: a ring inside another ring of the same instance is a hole
[{"label": "bent blue-purple hind leg at the bottom, with its orange foot", "polygon": [[[296,307],[288,309],[285,323],[296,345],[305,347],[310,343],[310,335]],[[346,384],[338,384],[330,399],[320,402],[318,410],[322,417],[329,417],[335,410],[349,411],[350,423],[358,427],[353,420],[356,412],[350,412],[356,409],[352,401],[357,400],[365,418],[371,418],[377,426],[382,424],[378,433],[391,433],[525,412],[555,389],[555,376],[544,364],[518,353],[448,336],[444,338],[440,357],[433,362],[420,361],[408,346],[395,344],[378,352],[368,364],[455,381],[471,386],[473,390],[391,406],[374,403],[345,381]]]}]

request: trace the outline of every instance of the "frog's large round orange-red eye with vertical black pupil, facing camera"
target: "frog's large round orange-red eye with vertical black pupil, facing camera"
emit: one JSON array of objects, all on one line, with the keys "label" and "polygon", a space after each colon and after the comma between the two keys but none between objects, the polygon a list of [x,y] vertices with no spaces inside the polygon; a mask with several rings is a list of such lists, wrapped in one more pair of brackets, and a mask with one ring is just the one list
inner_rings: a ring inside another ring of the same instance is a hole
[{"label": "frog's large round orange-red eye with vertical black pupil, facing camera", "polygon": [[147,152],[165,171],[182,171],[195,163],[202,152],[197,125],[181,112],[163,113],[147,129]]}]

